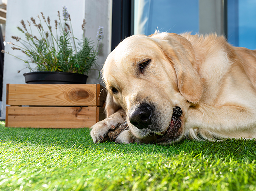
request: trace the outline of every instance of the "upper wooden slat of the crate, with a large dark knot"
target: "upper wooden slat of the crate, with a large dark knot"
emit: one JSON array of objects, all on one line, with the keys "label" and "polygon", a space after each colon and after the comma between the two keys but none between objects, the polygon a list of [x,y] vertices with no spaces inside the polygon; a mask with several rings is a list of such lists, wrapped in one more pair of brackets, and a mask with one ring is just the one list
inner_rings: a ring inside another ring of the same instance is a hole
[{"label": "upper wooden slat of the crate, with a large dark knot", "polygon": [[[96,84],[8,84],[7,105],[102,106],[104,94],[97,97]],[[99,93],[98,93],[99,95]],[[97,101],[99,100],[99,101]]]}]

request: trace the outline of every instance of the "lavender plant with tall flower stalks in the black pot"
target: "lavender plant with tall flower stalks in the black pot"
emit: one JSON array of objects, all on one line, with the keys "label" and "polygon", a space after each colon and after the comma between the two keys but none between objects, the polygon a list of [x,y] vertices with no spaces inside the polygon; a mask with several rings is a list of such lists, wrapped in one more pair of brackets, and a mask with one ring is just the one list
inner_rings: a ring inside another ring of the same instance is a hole
[{"label": "lavender plant with tall flower stalks in the black pot", "polygon": [[[18,36],[11,36],[17,42],[20,42],[20,46],[12,42],[8,44],[13,45],[13,50],[22,51],[27,55],[28,60],[22,60],[28,64],[28,68],[32,71],[88,74],[97,65],[97,56],[102,47],[100,41],[103,39],[103,27],[98,29],[98,42],[96,48],[94,48],[94,42],[85,37],[85,19],[82,24],[83,38],[78,40],[74,37],[71,17],[66,6],[63,7],[62,13],[63,21],[61,21],[60,12],[58,11],[59,21],[54,21],[55,30],[51,26],[51,19],[49,17],[45,18],[42,12],[41,17],[37,16],[39,23],[36,23],[33,17],[30,18],[31,21],[27,21],[29,29],[27,29],[24,20],[20,21],[22,27],[17,27],[17,29],[25,35],[25,40]],[[43,27],[42,20],[45,23],[46,29]],[[37,28],[39,32],[38,37],[33,35],[31,24]],[[76,41],[78,46],[76,46]],[[10,54],[9,52],[6,53]],[[37,66],[32,68],[30,63],[35,63]]]}]

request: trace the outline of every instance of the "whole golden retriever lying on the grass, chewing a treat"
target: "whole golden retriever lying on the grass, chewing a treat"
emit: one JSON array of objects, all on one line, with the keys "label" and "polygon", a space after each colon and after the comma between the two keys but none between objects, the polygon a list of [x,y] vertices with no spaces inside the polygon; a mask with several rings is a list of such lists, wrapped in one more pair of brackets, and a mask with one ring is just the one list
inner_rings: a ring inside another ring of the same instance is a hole
[{"label": "whole golden retriever lying on the grass, chewing a treat", "polygon": [[103,79],[107,118],[91,127],[94,142],[125,120],[116,142],[256,138],[256,50],[222,36],[128,37],[106,59]]}]

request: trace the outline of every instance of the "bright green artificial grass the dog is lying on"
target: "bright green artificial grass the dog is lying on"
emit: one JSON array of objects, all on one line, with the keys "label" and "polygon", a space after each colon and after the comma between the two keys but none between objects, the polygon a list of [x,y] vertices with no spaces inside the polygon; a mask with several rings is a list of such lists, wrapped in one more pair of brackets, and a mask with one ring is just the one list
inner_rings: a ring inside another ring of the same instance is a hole
[{"label": "bright green artificial grass the dog is lying on", "polygon": [[256,143],[94,144],[88,128],[0,125],[0,190],[256,190]]}]

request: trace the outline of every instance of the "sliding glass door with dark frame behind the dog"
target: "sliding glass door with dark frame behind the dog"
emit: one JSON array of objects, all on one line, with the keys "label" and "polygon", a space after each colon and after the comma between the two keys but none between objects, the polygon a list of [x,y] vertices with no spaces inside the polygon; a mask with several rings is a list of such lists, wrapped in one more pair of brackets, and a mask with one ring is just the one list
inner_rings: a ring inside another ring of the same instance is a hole
[{"label": "sliding glass door with dark frame behind the dog", "polygon": [[156,29],[216,33],[256,49],[256,0],[113,0],[112,49],[125,37]]}]

